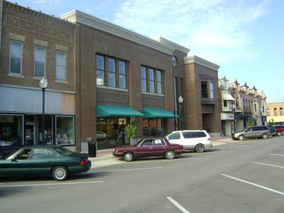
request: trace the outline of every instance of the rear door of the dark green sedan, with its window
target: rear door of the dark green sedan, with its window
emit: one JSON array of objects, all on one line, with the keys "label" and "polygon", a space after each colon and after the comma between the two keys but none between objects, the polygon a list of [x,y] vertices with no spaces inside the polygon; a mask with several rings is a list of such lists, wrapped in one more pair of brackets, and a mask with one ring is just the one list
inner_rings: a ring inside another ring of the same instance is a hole
[{"label": "rear door of the dark green sedan, with its window", "polygon": [[29,163],[29,173],[33,175],[48,175],[56,164],[55,151],[47,147],[33,148]]}]

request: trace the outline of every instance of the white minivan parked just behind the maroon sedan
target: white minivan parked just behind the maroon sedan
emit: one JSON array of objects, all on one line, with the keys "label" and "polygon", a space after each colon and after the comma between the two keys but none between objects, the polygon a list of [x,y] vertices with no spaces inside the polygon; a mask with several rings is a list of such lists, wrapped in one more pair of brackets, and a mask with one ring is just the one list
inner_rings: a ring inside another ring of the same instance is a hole
[{"label": "white minivan parked just behind the maroon sedan", "polygon": [[173,131],[165,138],[170,143],[178,143],[182,145],[185,150],[194,150],[197,153],[202,153],[205,148],[212,148],[211,137],[209,133],[204,130],[182,130]]}]

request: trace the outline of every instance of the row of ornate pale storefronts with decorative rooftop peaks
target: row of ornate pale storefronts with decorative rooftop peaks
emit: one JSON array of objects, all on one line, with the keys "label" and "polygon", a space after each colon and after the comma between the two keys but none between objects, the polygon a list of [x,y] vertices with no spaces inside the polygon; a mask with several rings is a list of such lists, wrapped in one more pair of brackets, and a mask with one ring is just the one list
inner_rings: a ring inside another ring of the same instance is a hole
[{"label": "row of ornate pale storefronts with decorative rooftop peaks", "polygon": [[266,125],[266,95],[256,87],[250,89],[245,83],[241,86],[237,80],[229,83],[226,77],[219,80],[222,97],[222,135],[230,136],[241,131],[252,122],[253,125]]}]

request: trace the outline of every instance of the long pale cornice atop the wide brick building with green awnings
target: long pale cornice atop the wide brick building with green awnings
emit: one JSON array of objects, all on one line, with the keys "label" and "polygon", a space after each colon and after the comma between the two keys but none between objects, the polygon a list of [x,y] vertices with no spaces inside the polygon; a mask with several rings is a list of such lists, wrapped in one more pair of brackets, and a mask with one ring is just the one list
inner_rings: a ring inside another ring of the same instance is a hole
[{"label": "long pale cornice atop the wide brick building with green awnings", "polygon": [[104,21],[101,18],[97,18],[91,16],[82,11],[74,10],[69,13],[65,13],[60,18],[64,20],[70,21],[71,23],[82,23],[86,26],[90,26],[92,28],[96,28],[100,31],[104,31],[106,33],[110,33],[126,40],[131,40],[134,43],[138,43],[140,45],[144,45],[148,48],[152,48],[154,50],[158,50],[162,53],[166,53],[168,55],[173,55],[173,51],[175,50],[168,45],[164,45],[159,43],[156,40],[148,38],[146,36],[140,35],[133,31],[129,31],[126,28],[122,28],[120,26],[115,25],[114,23],[110,23],[108,21]]}]

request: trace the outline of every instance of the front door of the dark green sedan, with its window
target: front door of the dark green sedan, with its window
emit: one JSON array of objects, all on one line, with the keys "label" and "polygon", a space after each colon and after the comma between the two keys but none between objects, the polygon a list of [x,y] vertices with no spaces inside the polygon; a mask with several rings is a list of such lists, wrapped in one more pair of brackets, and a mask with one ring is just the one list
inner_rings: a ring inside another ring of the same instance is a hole
[{"label": "front door of the dark green sedan, with its window", "polygon": [[31,148],[23,148],[16,155],[3,160],[2,173],[6,175],[28,175]]}]

